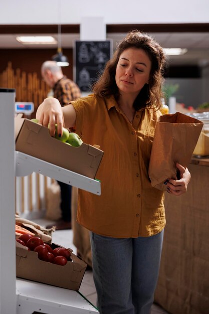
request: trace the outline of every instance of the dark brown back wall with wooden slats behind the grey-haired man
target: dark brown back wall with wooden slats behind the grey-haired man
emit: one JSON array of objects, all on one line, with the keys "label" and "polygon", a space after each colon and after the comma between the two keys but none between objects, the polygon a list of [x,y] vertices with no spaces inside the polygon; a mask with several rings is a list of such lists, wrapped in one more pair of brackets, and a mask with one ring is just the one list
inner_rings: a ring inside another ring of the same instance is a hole
[{"label": "dark brown back wall with wooden slats behind the grey-haired man", "polygon": [[[35,110],[29,118],[35,117],[38,106],[50,91],[42,80],[41,65],[54,53],[53,49],[0,49],[0,87],[15,88],[16,101],[34,103]],[[63,73],[73,79],[72,49],[68,49],[67,56],[70,66],[64,67]]]}]

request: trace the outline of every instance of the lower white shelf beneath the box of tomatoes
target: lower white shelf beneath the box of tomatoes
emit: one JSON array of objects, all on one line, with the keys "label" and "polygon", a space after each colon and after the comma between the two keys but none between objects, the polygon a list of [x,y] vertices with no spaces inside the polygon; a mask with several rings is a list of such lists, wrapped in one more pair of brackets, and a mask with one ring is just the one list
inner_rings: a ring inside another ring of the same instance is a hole
[{"label": "lower white shelf beneath the box of tomatoes", "polygon": [[17,278],[17,314],[95,314],[98,310],[77,291]]}]

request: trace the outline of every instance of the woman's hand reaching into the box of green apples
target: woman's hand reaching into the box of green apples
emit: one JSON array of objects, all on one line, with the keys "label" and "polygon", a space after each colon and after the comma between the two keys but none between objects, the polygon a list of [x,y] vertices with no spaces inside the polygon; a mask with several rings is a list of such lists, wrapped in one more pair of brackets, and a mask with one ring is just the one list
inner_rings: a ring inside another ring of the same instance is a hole
[{"label": "woman's hand reaching into the box of green apples", "polygon": [[61,104],[58,99],[46,98],[37,109],[36,118],[39,123],[50,129],[50,135],[55,134],[55,123],[57,123],[57,132],[62,135],[64,118]]}]

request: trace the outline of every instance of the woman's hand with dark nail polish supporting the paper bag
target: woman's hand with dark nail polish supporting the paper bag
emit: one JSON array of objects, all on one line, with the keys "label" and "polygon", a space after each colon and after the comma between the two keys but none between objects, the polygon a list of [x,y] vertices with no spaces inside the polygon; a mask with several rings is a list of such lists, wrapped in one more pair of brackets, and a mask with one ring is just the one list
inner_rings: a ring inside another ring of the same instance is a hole
[{"label": "woman's hand with dark nail polish supporting the paper bag", "polygon": [[176,163],[176,168],[179,170],[180,179],[168,179],[164,184],[166,185],[166,190],[169,194],[179,196],[186,192],[191,175],[187,168],[184,168],[178,163]]}]

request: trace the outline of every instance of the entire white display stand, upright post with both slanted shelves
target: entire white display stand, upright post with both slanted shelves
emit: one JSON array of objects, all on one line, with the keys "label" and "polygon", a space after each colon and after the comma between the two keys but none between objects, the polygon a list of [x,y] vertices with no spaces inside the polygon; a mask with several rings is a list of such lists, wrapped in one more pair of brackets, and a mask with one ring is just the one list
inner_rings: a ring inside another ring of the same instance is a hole
[{"label": "entire white display stand, upright post with both slanted shelves", "polygon": [[[15,176],[33,172],[100,195],[100,182],[15,151],[15,90],[0,88],[0,313],[94,314],[98,310],[77,291],[16,279]],[[7,239],[7,241],[5,241]]]}]

